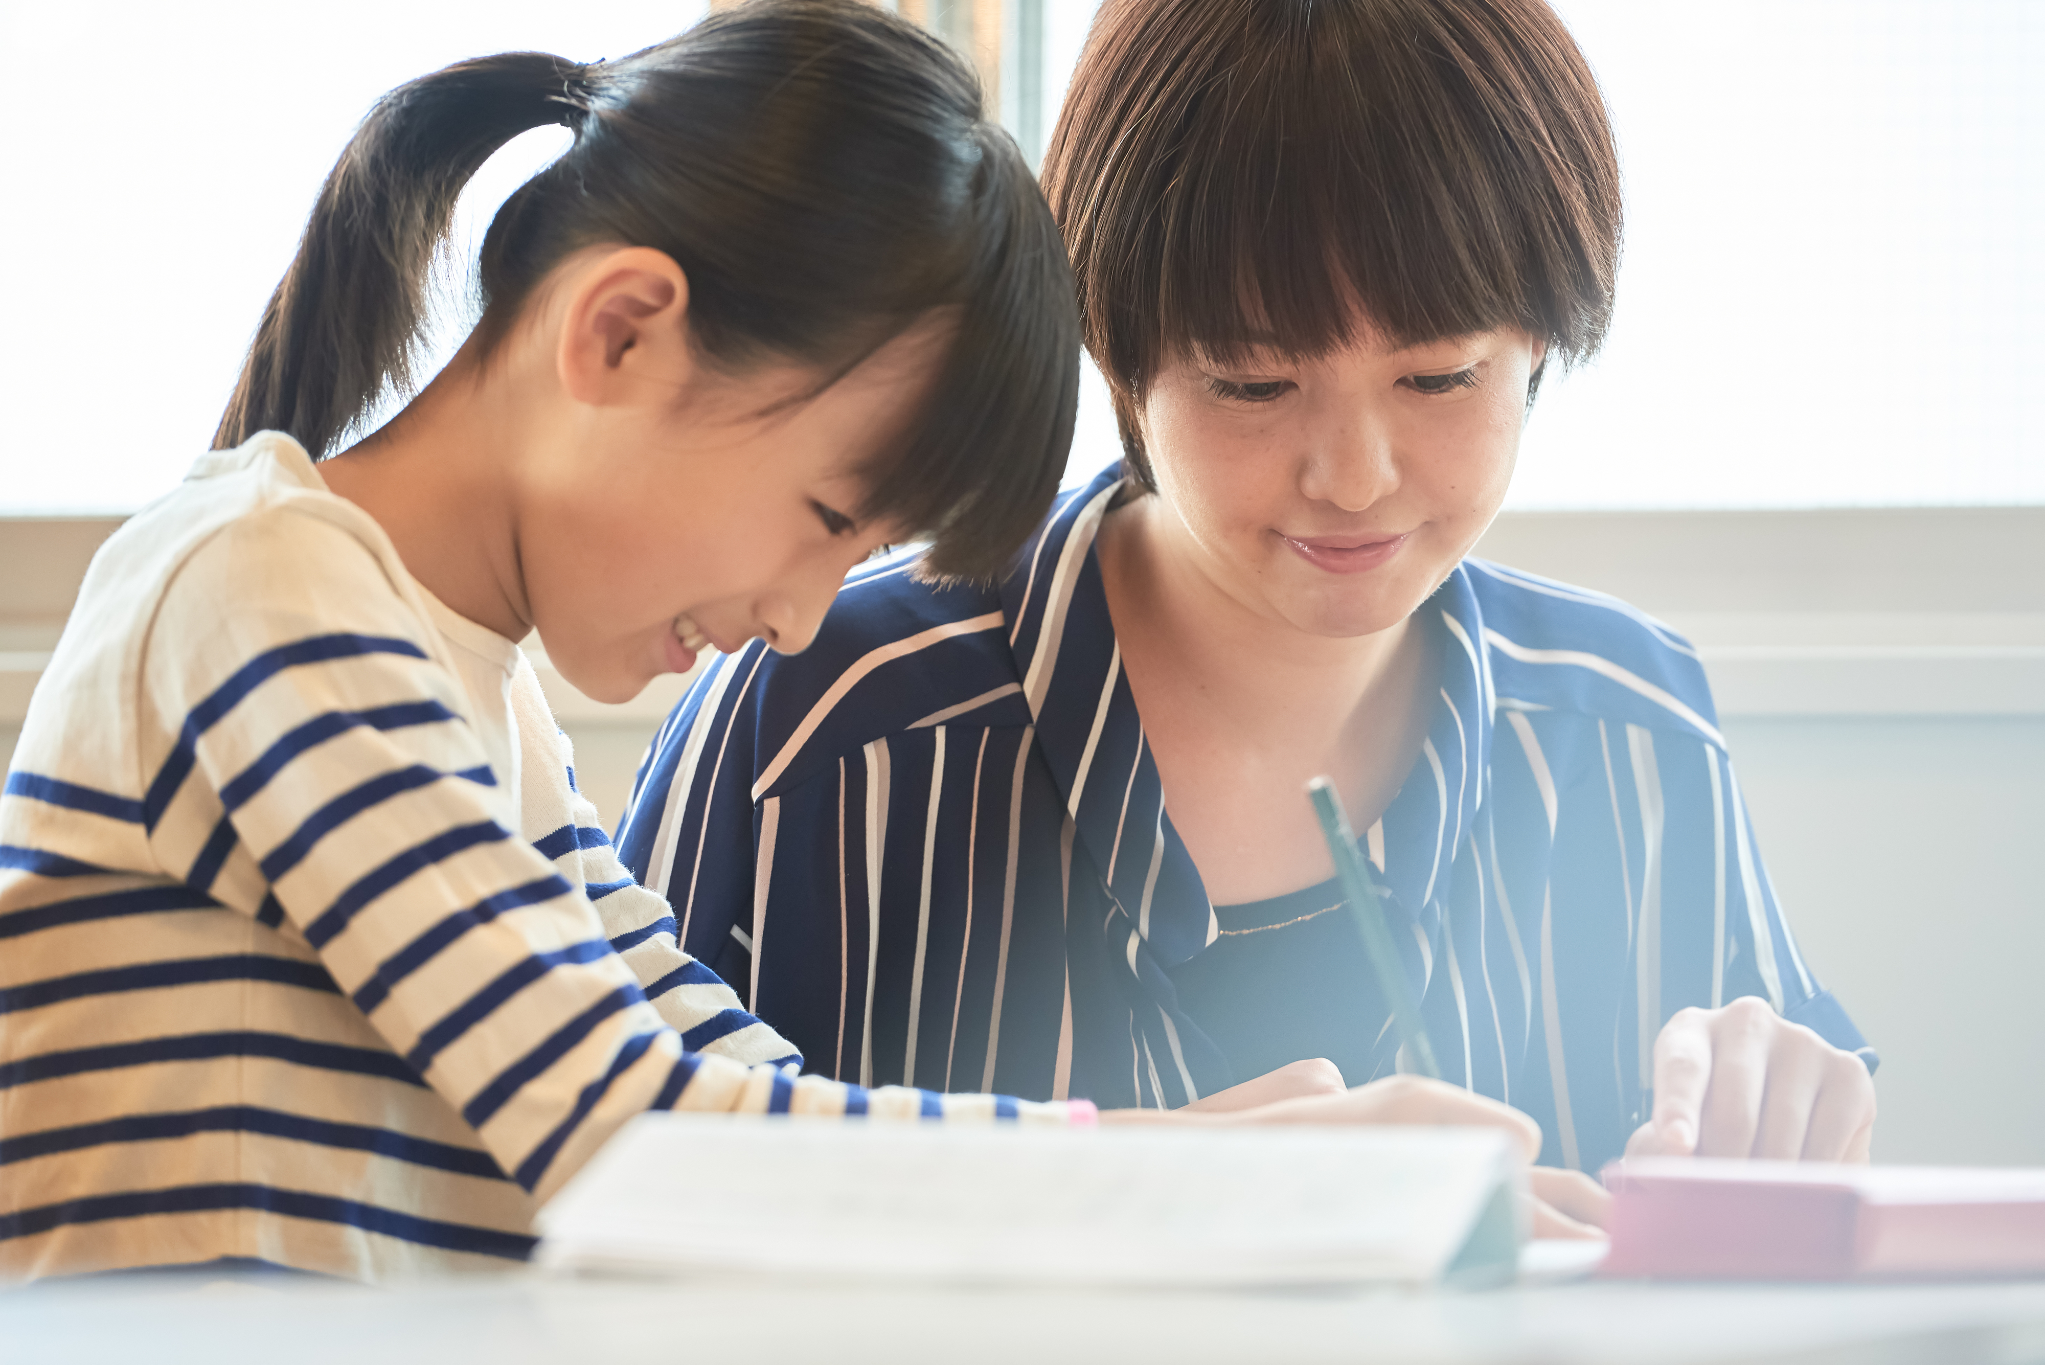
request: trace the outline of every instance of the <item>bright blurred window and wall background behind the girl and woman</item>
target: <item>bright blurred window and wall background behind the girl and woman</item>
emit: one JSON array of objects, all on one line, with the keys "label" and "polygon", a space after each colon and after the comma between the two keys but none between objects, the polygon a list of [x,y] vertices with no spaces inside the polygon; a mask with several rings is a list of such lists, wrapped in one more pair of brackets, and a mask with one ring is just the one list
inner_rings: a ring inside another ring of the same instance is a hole
[{"label": "bright blurred window and wall background behind the girl and woman", "polygon": [[[1092,0],[894,8],[1039,157]],[[1877,1157],[2045,1165],[2045,4],[1556,8],[1620,135],[1620,307],[1544,384],[1481,552],[1699,642],[1806,956],[1888,1058]],[[701,12],[0,0],[0,760],[92,550],[207,448],[368,104]],[[495,206],[564,143],[528,133],[470,186],[434,354]],[[1067,482],[1115,454],[1088,370]],[[536,658],[616,819],[679,685],[599,707]]]}]

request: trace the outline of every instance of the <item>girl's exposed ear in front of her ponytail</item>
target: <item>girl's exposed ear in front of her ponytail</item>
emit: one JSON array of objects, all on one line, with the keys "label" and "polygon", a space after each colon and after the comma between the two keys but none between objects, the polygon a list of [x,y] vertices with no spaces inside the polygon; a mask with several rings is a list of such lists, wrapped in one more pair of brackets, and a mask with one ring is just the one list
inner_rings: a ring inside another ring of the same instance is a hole
[{"label": "girl's exposed ear in front of her ponytail", "polygon": [[675,257],[620,247],[569,282],[554,364],[577,403],[669,403],[695,372],[689,280]]}]

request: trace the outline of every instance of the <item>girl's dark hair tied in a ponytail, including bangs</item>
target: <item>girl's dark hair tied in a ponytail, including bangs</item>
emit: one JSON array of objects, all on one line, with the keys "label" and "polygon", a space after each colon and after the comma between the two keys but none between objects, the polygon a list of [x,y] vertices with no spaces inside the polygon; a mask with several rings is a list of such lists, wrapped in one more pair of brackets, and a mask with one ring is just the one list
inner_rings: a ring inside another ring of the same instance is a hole
[{"label": "girl's dark hair tied in a ponytail, including bangs", "polygon": [[550,123],[573,147],[483,241],[485,351],[540,280],[595,243],[667,251],[712,360],[851,370],[933,309],[957,319],[906,450],[859,509],[935,539],[928,568],[992,574],[1051,505],[1080,333],[1057,227],[980,82],[855,0],[753,0],[618,61],[462,61],[387,94],[327,178],[215,445],[280,429],[315,458],[407,386],[454,202],[497,147]]}]

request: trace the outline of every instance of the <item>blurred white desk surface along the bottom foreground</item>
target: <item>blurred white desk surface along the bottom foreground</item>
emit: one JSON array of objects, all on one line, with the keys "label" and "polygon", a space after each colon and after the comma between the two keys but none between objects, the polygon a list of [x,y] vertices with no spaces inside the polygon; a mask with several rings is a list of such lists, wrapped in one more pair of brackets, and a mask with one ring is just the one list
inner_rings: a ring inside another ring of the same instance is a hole
[{"label": "blurred white desk surface along the bottom foreground", "polygon": [[2014,1365],[2045,1361],[2045,1283],[1192,1296],[513,1275],[401,1289],[123,1277],[0,1293],[6,1365],[939,1359]]}]

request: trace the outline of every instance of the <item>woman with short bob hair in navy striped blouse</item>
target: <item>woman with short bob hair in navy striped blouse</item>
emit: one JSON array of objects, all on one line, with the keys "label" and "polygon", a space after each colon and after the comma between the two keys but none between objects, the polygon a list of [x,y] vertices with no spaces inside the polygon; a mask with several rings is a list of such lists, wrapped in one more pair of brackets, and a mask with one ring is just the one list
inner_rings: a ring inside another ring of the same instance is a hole
[{"label": "woman with short bob hair in navy striped blouse", "polygon": [[1466,558],[1611,315],[1618,161],[1554,12],[1108,0],[1043,182],[1125,460],[998,580],[896,556],[802,658],[695,682],[622,826],[685,946],[861,1083],[1368,1091],[1401,1058],[1325,772],[1446,1081],[1548,1163],[1865,1159],[1871,1054],[1695,652]]}]

